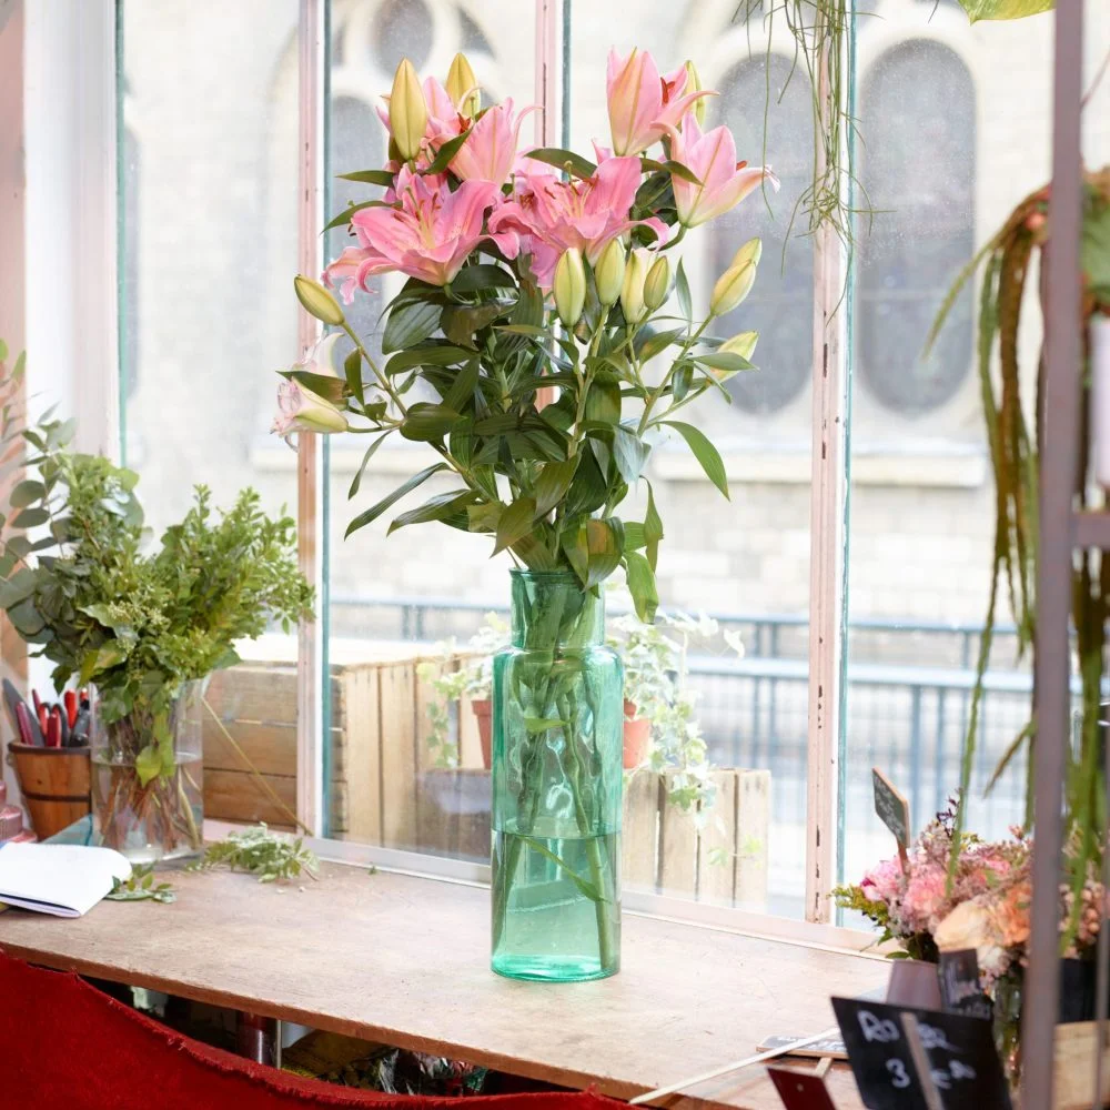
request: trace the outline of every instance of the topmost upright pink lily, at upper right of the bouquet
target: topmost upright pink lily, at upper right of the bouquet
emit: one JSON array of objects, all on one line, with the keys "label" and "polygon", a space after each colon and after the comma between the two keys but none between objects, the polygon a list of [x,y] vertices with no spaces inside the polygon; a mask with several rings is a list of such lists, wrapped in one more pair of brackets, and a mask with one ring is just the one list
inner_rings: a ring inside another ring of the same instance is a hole
[{"label": "topmost upright pink lily, at upper right of the bouquet", "polygon": [[647,150],[665,134],[673,134],[699,98],[716,95],[708,89],[684,95],[688,81],[684,65],[660,77],[646,50],[634,48],[627,58],[610,50],[605,85],[614,153]]}]

